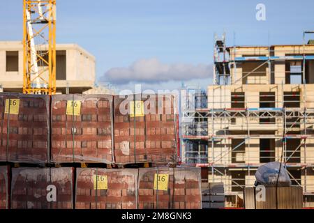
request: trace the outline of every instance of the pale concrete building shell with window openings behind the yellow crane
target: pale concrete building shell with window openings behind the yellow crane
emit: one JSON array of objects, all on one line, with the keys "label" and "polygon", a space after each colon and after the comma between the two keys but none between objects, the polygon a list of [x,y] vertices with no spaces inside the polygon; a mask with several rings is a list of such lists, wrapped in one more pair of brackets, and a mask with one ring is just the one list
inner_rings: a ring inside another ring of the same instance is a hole
[{"label": "pale concrete building shell with window openings behind the yellow crane", "polygon": [[[82,93],[94,87],[96,59],[76,44],[57,44],[57,93]],[[39,65],[40,66],[40,65]],[[4,92],[22,92],[22,42],[0,42],[0,84]]]}]

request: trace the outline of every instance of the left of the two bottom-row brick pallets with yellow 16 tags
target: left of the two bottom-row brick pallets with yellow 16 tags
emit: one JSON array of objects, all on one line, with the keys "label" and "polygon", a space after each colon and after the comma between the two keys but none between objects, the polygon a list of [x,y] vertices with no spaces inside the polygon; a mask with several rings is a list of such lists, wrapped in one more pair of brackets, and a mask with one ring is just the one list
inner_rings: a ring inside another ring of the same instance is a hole
[{"label": "left of the two bottom-row brick pallets with yellow 16 tags", "polygon": [[137,169],[77,169],[75,208],[137,208]]}]

